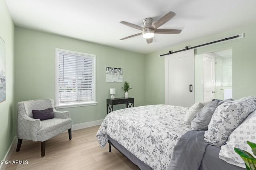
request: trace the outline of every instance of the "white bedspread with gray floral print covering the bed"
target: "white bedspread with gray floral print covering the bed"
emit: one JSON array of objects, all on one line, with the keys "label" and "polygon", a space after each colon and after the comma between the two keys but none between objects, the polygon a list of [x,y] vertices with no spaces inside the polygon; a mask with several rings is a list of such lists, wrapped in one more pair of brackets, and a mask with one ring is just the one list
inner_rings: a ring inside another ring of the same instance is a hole
[{"label": "white bedspread with gray floral print covering the bed", "polygon": [[154,170],[166,170],[177,139],[190,131],[184,125],[187,107],[149,105],[109,113],[96,137],[100,147],[108,136],[116,140]]}]

